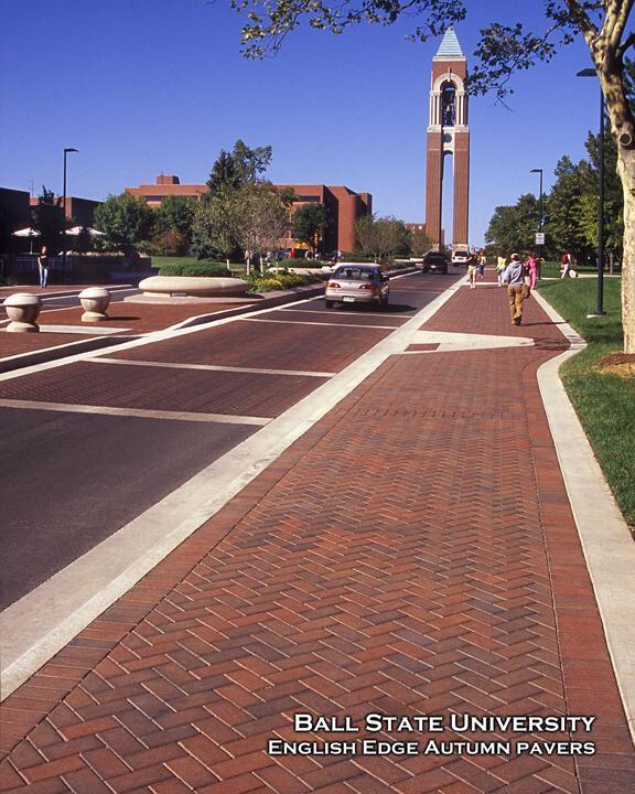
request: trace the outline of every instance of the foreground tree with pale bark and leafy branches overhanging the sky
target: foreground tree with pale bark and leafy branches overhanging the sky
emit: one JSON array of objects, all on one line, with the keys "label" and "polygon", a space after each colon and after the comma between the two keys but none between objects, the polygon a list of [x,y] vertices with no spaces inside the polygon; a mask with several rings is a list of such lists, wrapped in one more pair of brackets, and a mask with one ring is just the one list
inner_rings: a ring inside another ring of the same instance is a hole
[{"label": "foreground tree with pale bark and leafy branches overhanging the sky", "polygon": [[[303,21],[314,29],[342,33],[360,22],[388,25],[405,15],[417,17],[412,37],[426,41],[464,19],[467,6],[483,8],[483,3],[465,0],[230,0],[230,6],[248,15],[241,31],[248,57],[279,50]],[[617,144],[624,200],[622,322],[628,353],[635,353],[635,116],[627,100],[629,77],[624,58],[635,46],[635,32],[629,28],[633,6],[633,0],[543,0],[543,17],[535,18],[536,31],[527,31],[521,23],[492,22],[481,30],[477,63],[469,81],[472,93],[495,90],[503,98],[512,93],[509,81],[515,72],[550,61],[578,39],[586,44]]]}]

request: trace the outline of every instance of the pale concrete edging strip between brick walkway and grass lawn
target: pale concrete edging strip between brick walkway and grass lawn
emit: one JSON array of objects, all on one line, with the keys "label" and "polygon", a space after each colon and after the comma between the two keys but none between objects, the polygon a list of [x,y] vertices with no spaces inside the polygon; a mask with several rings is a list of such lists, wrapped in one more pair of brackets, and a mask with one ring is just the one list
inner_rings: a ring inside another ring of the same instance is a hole
[{"label": "pale concrete edging strip between brick walkway and grass lawn", "polygon": [[538,369],[538,385],[635,741],[635,543],[558,375],[586,343],[545,298],[532,294],[571,342]]}]

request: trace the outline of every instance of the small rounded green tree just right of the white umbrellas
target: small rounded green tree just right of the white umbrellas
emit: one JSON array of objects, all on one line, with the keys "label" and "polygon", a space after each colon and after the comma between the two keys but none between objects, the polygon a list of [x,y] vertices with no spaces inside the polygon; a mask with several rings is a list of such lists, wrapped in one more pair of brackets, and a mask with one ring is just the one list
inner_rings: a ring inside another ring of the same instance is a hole
[{"label": "small rounded green tree just right of the white umbrellas", "polygon": [[95,210],[95,226],[105,233],[107,245],[129,253],[150,237],[154,227],[154,211],[143,198],[130,193],[109,195]]}]

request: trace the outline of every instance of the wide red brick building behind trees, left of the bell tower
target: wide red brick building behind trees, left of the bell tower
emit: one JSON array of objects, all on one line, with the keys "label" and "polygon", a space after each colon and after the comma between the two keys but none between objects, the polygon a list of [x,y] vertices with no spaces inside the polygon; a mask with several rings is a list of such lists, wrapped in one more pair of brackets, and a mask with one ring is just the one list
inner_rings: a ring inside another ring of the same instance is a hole
[{"label": "wide red brick building behind trees, left of the bell tower", "polygon": [[[326,207],[329,225],[322,242],[323,253],[334,250],[355,250],[355,224],[358,218],[373,212],[373,196],[369,193],[356,193],[344,185],[287,184],[278,187],[291,187],[298,194],[291,212],[302,204],[319,202]],[[144,198],[150,206],[161,206],[170,195],[201,198],[207,193],[206,184],[181,184],[179,176],[157,176],[155,184],[126,187],[126,193]],[[283,248],[297,247],[291,237],[281,240]]]}]

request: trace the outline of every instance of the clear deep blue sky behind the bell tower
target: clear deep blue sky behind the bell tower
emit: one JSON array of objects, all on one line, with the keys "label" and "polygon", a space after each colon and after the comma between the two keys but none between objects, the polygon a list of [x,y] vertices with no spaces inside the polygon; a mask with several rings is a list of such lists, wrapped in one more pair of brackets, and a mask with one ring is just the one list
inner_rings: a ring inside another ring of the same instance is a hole
[{"label": "clear deep blue sky behind the bell tower", "polygon": [[[541,0],[480,0],[456,33],[470,56],[491,20],[542,22]],[[228,0],[0,0],[0,185],[105,198],[173,173],[207,179],[241,138],[273,147],[269,179],[345,184],[380,215],[424,219],[430,64],[439,41],[412,44],[408,24],[334,36],[300,30],[261,62],[239,54]],[[599,122],[583,43],[514,79],[509,108],[471,100],[471,243],[494,207],[545,189],[562,154],[584,155]]]}]

